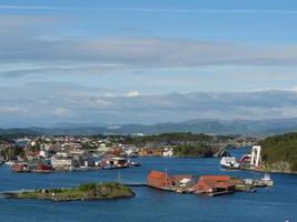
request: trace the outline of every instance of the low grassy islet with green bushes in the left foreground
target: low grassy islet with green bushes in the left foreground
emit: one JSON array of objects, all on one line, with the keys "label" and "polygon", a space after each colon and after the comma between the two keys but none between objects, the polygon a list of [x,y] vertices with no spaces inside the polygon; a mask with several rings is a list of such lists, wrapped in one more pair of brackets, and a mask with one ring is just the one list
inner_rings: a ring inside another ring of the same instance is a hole
[{"label": "low grassy islet with green bushes in the left foreground", "polygon": [[86,201],[86,200],[110,200],[132,198],[135,193],[130,188],[116,182],[87,183],[77,188],[67,189],[41,189],[34,191],[22,191],[6,193],[8,199],[38,199],[52,201]]}]

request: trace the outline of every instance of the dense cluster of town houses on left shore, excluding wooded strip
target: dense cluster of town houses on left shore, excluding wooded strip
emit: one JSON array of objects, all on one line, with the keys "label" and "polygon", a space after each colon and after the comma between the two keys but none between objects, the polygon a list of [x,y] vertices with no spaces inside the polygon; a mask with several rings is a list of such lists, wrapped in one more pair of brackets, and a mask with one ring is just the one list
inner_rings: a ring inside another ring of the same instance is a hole
[{"label": "dense cluster of town houses on left shore, excluding wooded strip", "polygon": [[138,150],[119,139],[92,137],[23,137],[2,141],[0,161],[13,172],[85,171],[139,167]]}]

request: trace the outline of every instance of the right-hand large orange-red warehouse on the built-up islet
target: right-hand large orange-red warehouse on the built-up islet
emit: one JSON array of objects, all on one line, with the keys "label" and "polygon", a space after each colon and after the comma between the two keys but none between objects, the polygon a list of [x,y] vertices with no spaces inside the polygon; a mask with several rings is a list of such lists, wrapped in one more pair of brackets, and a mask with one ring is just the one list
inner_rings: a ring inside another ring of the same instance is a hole
[{"label": "right-hand large orange-red warehouse on the built-up islet", "polygon": [[236,191],[236,186],[228,175],[202,175],[195,185],[196,193],[222,194]]}]

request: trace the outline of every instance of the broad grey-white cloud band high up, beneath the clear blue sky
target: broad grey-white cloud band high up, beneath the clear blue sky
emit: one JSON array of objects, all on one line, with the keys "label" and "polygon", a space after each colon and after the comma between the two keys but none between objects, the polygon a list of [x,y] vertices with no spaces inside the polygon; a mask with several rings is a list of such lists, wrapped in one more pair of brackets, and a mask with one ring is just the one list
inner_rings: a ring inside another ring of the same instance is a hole
[{"label": "broad grey-white cloud band high up, beneath the clear blue sky", "polygon": [[[115,65],[106,68],[108,71],[127,67],[174,69],[222,64],[284,65],[297,63],[296,44],[249,46],[170,38],[49,41],[26,34],[21,34],[20,38],[16,34],[11,36],[0,37],[1,41],[6,42],[4,48],[0,51],[0,59],[4,63],[34,61],[48,64],[62,62],[66,65],[73,63]],[[44,71],[52,70],[48,68]]]}]

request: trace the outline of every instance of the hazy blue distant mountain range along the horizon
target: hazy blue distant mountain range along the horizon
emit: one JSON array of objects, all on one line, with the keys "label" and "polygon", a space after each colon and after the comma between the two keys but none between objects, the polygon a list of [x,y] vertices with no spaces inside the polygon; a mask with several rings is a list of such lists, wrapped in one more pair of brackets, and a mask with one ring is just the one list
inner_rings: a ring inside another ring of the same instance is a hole
[{"label": "hazy blue distant mountain range along the horizon", "polygon": [[212,134],[268,135],[297,131],[296,119],[267,120],[189,120],[179,123],[119,124],[103,123],[59,123],[51,128],[0,129],[0,134],[133,134],[192,132]]}]

